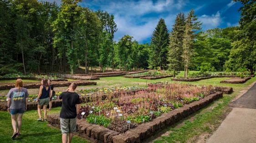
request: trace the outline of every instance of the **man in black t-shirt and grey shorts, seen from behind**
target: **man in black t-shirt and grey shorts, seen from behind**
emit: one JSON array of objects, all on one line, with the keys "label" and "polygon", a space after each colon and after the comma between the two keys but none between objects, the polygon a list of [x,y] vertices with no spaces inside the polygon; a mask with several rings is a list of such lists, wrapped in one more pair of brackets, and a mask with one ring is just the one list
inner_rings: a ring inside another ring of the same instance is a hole
[{"label": "man in black t-shirt and grey shorts, seen from behind", "polygon": [[60,120],[62,143],[71,143],[74,132],[77,131],[77,115],[80,110],[79,95],[74,92],[77,88],[76,83],[72,83],[66,92],[62,92],[59,99],[62,99]]}]

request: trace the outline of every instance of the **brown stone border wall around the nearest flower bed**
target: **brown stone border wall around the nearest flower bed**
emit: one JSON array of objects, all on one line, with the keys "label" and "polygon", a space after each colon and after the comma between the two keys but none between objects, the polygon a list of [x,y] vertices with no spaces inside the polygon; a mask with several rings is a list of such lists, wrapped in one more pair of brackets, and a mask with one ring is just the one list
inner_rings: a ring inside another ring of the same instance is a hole
[{"label": "brown stone border wall around the nearest flower bed", "polygon": [[[221,97],[223,97],[222,92],[208,95],[189,105],[164,113],[148,123],[139,124],[125,133],[119,133],[97,124],[89,124],[85,119],[77,119],[77,132],[79,136],[95,143],[141,143],[158,133],[159,130],[179,122]],[[47,119],[52,126],[60,126],[59,114],[49,114]]]}]

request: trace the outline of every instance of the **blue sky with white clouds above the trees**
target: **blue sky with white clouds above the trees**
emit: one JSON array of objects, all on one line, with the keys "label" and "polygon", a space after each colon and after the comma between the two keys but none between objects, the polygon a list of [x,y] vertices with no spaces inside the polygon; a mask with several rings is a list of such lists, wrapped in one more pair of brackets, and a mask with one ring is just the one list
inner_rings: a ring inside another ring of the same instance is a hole
[{"label": "blue sky with white clouds above the trees", "polygon": [[[60,0],[56,2],[60,4]],[[186,15],[192,8],[203,22],[203,30],[238,26],[241,7],[232,0],[83,0],[79,5],[113,14],[118,28],[114,40],[128,34],[139,43],[150,42],[160,18],[170,31],[176,15]]]}]

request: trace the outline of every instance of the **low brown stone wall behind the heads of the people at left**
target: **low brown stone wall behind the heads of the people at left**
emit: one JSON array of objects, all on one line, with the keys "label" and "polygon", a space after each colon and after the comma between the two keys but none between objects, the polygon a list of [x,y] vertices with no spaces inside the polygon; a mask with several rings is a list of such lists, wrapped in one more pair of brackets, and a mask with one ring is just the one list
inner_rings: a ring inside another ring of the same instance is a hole
[{"label": "low brown stone wall behind the heads of the people at left", "polygon": [[[72,82],[77,83],[77,86],[91,86],[91,85],[97,85],[97,82],[91,82],[91,81],[67,81],[65,83],[53,83],[54,87],[66,87],[70,86]],[[25,84],[23,85],[24,88],[27,89],[35,89],[35,88],[40,88],[41,83],[35,83],[35,84]],[[10,90],[11,88],[15,87],[15,83],[13,85],[1,85],[0,90]]]}]

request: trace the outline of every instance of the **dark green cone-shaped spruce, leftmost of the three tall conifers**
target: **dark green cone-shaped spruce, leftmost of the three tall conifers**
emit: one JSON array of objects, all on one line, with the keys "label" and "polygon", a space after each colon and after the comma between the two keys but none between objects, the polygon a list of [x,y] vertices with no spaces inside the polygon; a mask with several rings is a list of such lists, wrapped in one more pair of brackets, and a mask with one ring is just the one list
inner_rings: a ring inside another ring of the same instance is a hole
[{"label": "dark green cone-shaped spruce, leftmost of the three tall conifers", "polygon": [[149,59],[150,68],[166,67],[167,54],[169,45],[169,30],[164,22],[164,19],[160,19],[152,36],[151,36],[151,48],[152,54]]}]

